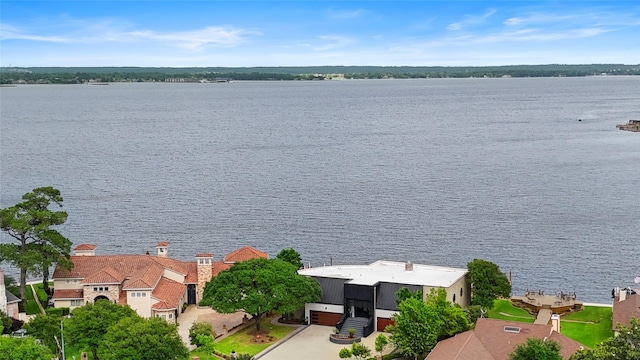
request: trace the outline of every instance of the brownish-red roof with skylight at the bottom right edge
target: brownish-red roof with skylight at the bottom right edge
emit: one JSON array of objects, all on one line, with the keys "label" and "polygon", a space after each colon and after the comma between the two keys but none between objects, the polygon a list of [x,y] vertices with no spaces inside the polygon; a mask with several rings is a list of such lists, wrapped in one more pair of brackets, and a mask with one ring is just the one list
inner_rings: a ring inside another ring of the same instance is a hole
[{"label": "brownish-red roof with skylight at the bottom right edge", "polygon": [[[505,326],[520,328],[507,332]],[[560,355],[569,359],[582,344],[551,330],[550,325],[517,323],[496,319],[478,319],[473,330],[443,340],[431,351],[427,360],[503,360],[528,338],[550,339],[560,344]]]}]

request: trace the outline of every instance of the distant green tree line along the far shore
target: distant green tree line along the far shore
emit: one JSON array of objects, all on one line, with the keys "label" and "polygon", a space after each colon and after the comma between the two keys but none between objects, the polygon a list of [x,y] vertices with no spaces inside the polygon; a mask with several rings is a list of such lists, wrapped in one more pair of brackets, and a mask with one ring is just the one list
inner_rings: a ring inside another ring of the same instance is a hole
[{"label": "distant green tree line along the far shore", "polygon": [[640,75],[640,65],[511,65],[487,67],[309,66],[309,67],[3,67],[0,84],[82,84],[99,82],[164,82],[167,78],[233,80],[323,80],[325,74],[347,79],[422,79],[467,77],[575,77]]}]

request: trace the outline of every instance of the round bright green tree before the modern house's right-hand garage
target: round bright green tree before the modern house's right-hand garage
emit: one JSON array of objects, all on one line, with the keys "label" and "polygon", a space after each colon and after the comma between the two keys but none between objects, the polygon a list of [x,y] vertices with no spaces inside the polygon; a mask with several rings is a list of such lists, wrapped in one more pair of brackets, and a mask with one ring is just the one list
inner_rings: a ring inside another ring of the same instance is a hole
[{"label": "round bright green tree before the modern house's right-hand garage", "polygon": [[387,326],[386,331],[391,333],[391,342],[405,356],[417,359],[438,342],[442,320],[437,309],[422,299],[408,297],[403,300],[391,320],[393,325]]}]

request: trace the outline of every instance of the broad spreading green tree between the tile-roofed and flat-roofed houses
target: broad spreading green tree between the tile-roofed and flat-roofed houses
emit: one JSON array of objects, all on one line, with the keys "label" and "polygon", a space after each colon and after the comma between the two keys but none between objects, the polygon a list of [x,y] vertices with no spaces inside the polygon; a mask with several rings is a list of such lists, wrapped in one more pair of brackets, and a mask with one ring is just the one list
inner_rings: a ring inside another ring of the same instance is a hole
[{"label": "broad spreading green tree between the tile-roofed and flat-roofed houses", "polygon": [[277,258],[260,258],[220,272],[205,286],[200,304],[224,314],[244,311],[260,331],[260,319],[266,313],[291,313],[321,297],[320,284],[299,275],[295,266]]}]

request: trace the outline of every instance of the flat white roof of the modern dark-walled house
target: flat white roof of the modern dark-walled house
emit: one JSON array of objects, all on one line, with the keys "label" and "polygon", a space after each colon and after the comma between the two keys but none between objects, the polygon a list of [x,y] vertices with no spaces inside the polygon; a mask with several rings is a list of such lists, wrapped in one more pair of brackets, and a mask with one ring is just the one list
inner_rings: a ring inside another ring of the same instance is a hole
[{"label": "flat white roof of the modern dark-walled house", "polygon": [[300,275],[349,279],[349,284],[373,286],[379,282],[448,288],[467,273],[467,269],[379,260],[369,265],[337,265],[298,270]]}]

